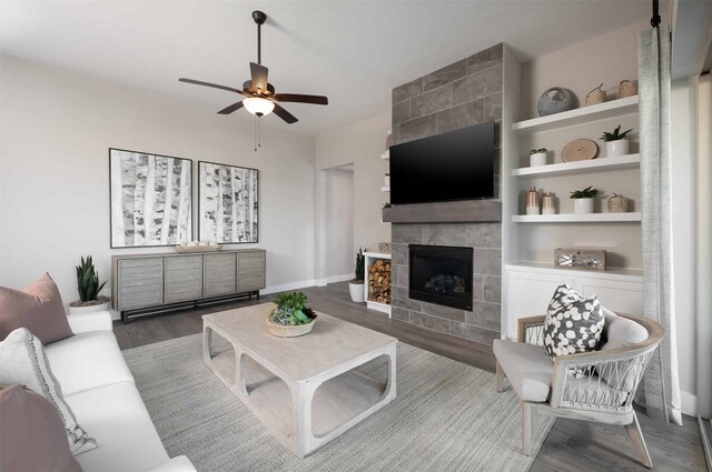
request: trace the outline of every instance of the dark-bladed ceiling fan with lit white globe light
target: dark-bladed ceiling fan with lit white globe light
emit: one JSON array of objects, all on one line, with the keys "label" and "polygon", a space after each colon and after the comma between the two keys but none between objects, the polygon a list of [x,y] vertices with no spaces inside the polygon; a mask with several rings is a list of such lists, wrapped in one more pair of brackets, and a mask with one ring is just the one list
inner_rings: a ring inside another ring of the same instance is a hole
[{"label": "dark-bladed ceiling fan with lit white globe light", "polygon": [[267,81],[268,69],[261,64],[261,26],[267,20],[267,14],[259,10],[253,11],[253,20],[257,23],[257,62],[249,63],[251,78],[243,83],[241,90],[200,80],[185,78],[180,78],[178,80],[186,83],[195,83],[196,86],[226,90],[245,97],[245,99],[218,111],[220,114],[230,114],[245,107],[247,111],[257,118],[265,117],[274,111],[277,117],[281,118],[287,123],[296,123],[298,121],[297,118],[276,102],[328,104],[328,99],[323,96],[275,93],[275,87]]}]

